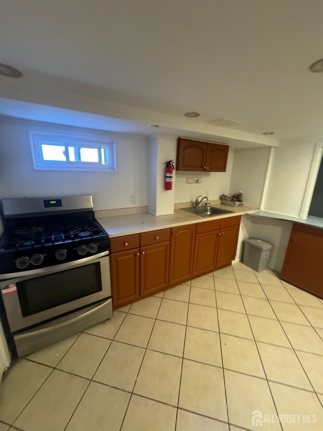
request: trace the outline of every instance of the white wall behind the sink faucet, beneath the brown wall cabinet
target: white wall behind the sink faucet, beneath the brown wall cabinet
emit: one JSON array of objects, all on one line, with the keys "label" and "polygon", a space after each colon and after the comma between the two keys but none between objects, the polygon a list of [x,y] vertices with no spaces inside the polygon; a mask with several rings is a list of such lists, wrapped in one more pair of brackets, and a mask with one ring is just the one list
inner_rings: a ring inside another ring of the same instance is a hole
[{"label": "white wall behind the sink faucet, beneath the brown wall cabinet", "polygon": [[[220,199],[229,194],[234,150],[230,148],[226,172],[186,172],[176,171],[175,203],[195,201],[198,195],[209,200]],[[201,178],[200,184],[187,184],[186,178]]]}]

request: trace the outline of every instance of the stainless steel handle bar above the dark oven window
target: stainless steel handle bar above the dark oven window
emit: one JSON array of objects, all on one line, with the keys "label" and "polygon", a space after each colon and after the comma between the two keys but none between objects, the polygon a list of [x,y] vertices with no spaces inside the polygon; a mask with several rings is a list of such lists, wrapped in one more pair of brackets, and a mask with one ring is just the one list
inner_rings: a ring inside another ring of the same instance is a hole
[{"label": "stainless steel handle bar above the dark oven window", "polygon": [[64,271],[65,269],[77,268],[78,266],[84,265],[85,263],[90,263],[93,260],[97,260],[104,256],[109,256],[109,250],[102,253],[98,253],[93,256],[85,257],[83,259],[74,260],[73,262],[66,262],[58,265],[46,266],[43,268],[30,269],[29,271],[19,271],[19,272],[11,272],[8,274],[0,274],[0,281],[7,280],[10,278],[24,277],[26,275],[53,274],[55,272]]}]

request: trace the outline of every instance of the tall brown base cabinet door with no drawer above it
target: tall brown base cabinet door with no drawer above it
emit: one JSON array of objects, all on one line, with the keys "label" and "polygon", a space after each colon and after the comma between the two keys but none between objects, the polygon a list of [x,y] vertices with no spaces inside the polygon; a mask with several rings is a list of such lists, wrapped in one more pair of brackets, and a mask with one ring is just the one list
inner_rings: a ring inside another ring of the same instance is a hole
[{"label": "tall brown base cabinet door with no drawer above it", "polygon": [[169,285],[192,277],[196,224],[172,228]]}]

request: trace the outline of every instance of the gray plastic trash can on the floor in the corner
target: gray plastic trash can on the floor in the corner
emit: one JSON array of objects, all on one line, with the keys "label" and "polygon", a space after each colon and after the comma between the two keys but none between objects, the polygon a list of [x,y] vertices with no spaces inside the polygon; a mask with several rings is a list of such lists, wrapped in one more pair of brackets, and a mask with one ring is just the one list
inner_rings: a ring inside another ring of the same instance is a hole
[{"label": "gray plastic trash can on the floor in the corner", "polygon": [[256,238],[244,240],[243,263],[255,271],[263,271],[267,267],[268,258],[273,247],[272,244]]}]

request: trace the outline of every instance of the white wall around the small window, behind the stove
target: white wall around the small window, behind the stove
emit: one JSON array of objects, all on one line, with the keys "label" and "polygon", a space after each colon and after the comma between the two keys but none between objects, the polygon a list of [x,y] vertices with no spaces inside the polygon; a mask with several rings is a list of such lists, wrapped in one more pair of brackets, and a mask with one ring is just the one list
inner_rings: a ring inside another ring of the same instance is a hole
[{"label": "white wall around the small window, behind the stove", "polygon": [[[114,139],[117,172],[34,170],[29,130]],[[0,199],[90,194],[95,210],[147,205],[144,136],[0,117],[0,149]],[[136,197],[135,204],[130,204],[131,194]]]}]

